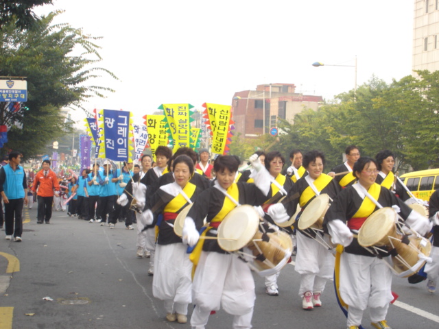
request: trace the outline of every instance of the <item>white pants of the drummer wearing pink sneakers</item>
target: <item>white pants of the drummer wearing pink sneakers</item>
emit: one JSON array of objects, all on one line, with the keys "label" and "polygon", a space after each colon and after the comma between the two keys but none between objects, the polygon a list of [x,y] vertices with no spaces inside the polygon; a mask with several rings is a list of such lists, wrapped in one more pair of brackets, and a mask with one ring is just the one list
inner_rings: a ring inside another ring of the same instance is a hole
[{"label": "white pants of the drummer wearing pink sneakers", "polygon": [[333,278],[335,258],[327,248],[302,233],[296,234],[296,272],[300,273],[299,295],[307,291],[324,290],[327,280]]}]

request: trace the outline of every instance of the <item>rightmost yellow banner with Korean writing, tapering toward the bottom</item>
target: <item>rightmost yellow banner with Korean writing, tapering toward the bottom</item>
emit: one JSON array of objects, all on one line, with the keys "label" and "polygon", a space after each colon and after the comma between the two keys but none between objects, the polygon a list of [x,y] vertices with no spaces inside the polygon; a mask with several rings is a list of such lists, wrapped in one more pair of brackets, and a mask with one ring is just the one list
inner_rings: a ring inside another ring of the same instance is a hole
[{"label": "rightmost yellow banner with Korean writing, tapering toward the bottom", "polygon": [[212,131],[212,148],[213,154],[226,154],[228,144],[230,144],[232,134],[230,134],[230,125],[232,121],[232,107],[229,105],[219,105],[213,103],[204,103],[206,108],[204,113],[206,119],[209,119],[209,125]]}]

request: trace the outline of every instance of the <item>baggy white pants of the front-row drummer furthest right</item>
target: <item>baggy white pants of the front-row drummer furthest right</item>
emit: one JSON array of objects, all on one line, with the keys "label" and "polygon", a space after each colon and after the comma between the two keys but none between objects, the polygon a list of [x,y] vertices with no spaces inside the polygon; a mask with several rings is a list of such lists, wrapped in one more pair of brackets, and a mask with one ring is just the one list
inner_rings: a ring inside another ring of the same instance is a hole
[{"label": "baggy white pants of the front-row drummer furthest right", "polygon": [[340,258],[340,295],[348,304],[348,326],[359,326],[369,306],[372,322],[383,321],[392,296],[392,271],[386,259],[348,254]]}]

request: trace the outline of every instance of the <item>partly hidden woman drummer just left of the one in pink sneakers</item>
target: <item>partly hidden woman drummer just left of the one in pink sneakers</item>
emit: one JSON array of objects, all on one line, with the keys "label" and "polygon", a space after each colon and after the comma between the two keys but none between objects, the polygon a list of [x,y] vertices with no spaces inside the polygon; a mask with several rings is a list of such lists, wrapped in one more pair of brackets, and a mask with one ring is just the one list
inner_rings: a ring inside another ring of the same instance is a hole
[{"label": "partly hidden woman drummer just left of the one in pink sneakers", "polygon": [[[276,204],[282,197],[288,194],[288,191],[293,186],[292,180],[289,180],[287,176],[282,175],[281,171],[285,164],[285,158],[283,158],[281,152],[271,151],[265,156],[265,168],[270,173],[270,193],[268,194],[267,202],[263,204],[264,209],[268,209],[272,204]],[[266,215],[261,212],[259,215],[264,217],[270,223],[273,223],[270,215]],[[272,274],[271,276],[265,276],[265,293],[271,296],[278,296],[277,278],[280,272]]]}]

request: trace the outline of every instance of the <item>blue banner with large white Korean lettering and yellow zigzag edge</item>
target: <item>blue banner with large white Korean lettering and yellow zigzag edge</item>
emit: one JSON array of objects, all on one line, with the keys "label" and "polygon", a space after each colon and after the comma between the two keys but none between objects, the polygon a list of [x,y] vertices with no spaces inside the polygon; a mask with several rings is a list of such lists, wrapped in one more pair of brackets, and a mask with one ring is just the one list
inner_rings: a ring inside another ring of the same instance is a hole
[{"label": "blue banner with large white Korean lettering and yellow zigzag edge", "polygon": [[[99,158],[126,161],[131,158],[132,120],[131,112],[102,110],[99,121]],[[102,130],[101,130],[102,128]]]}]

